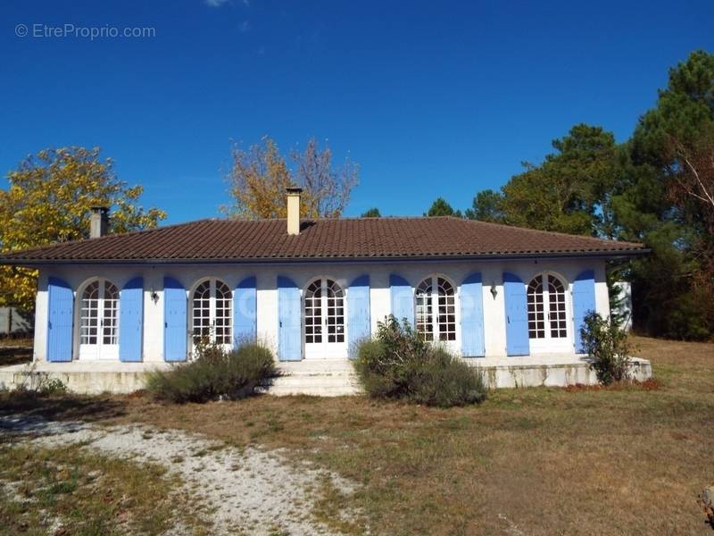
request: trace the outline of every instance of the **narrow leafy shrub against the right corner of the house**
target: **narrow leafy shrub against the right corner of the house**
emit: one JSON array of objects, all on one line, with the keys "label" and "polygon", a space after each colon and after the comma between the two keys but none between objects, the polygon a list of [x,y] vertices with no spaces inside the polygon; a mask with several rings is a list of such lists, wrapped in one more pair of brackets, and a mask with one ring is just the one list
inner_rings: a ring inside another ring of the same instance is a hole
[{"label": "narrow leafy shrub against the right corner of the house", "polygon": [[631,348],[627,331],[610,318],[604,320],[600,314],[588,313],[580,329],[580,338],[598,381],[610,385],[628,379]]}]

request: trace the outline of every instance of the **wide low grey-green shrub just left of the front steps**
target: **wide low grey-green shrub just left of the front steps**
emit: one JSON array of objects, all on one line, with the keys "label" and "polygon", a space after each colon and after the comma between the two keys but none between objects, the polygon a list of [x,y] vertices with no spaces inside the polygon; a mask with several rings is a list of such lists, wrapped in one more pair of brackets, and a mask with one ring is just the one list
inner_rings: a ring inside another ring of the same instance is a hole
[{"label": "wide low grey-green shrub just left of the front steps", "polygon": [[276,373],[272,352],[259,343],[244,342],[229,351],[202,343],[196,345],[193,361],[150,373],[146,389],[156,399],[178,404],[237,400],[255,393]]}]

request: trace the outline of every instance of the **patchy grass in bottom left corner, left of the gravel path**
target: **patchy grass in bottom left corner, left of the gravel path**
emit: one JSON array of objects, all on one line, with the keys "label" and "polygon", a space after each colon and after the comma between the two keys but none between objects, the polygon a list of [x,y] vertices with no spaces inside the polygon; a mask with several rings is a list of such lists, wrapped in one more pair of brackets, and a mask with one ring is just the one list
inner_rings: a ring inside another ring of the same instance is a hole
[{"label": "patchy grass in bottom left corner, left of the gravel path", "polygon": [[5,533],[202,532],[179,482],[160,465],[137,464],[79,445],[0,444],[0,526]]}]

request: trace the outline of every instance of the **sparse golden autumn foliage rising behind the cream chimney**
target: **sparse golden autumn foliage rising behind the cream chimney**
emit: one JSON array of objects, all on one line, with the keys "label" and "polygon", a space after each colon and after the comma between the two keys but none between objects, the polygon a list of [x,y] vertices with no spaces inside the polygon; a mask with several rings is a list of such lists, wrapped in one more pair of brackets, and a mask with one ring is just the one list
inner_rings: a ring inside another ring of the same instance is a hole
[{"label": "sparse golden autumn foliage rising behind the cream chimney", "polygon": [[332,151],[320,148],[312,138],[303,152],[294,150],[291,171],[278,145],[265,137],[244,150],[233,149],[233,167],[228,175],[233,205],[223,207],[229,215],[246,218],[285,218],[288,187],[303,188],[300,213],[308,218],[336,218],[345,210],[357,185],[358,168],[349,160],[335,169]]}]

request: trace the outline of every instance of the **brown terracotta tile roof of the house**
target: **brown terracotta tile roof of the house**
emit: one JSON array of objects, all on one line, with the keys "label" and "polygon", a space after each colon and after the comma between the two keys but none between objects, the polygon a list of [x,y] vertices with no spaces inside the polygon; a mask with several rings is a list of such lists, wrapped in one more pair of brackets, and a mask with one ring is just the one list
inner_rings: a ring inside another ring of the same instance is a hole
[{"label": "brown terracotta tile roof of the house", "polygon": [[637,255],[642,244],[453,217],[199,220],[0,255],[0,264],[270,262],[307,259]]}]

